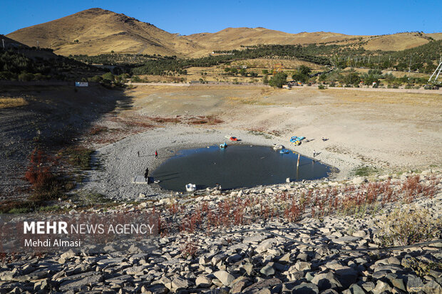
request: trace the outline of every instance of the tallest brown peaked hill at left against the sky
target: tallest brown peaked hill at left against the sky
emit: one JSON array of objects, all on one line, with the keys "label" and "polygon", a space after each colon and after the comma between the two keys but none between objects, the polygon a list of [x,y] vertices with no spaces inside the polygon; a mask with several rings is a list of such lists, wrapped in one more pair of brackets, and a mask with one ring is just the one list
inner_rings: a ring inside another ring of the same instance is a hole
[{"label": "tallest brown peaked hill at left against the sky", "polygon": [[36,46],[38,40],[41,47],[53,48],[55,53],[64,56],[111,51],[172,56],[200,49],[191,41],[150,23],[98,8],[21,28],[9,33],[8,37],[28,46]]}]

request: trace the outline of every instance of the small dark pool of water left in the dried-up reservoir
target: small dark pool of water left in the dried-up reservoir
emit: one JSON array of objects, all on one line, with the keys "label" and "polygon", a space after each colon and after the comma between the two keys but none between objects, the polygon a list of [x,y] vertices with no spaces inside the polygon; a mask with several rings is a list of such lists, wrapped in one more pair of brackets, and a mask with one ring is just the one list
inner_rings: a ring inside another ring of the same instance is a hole
[{"label": "small dark pool of water left in the dried-up reservoir", "polygon": [[186,184],[197,189],[237,189],[259,185],[281,184],[292,181],[328,177],[333,167],[300,156],[289,150],[282,154],[272,147],[228,145],[226,148],[210,146],[182,149],[153,171],[160,187],[171,191],[186,191]]}]

